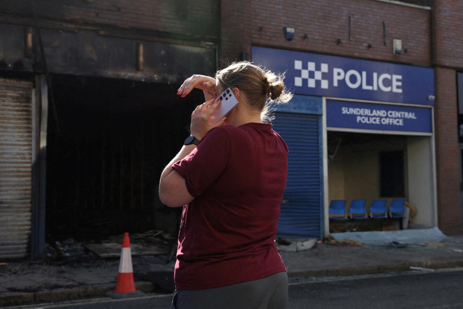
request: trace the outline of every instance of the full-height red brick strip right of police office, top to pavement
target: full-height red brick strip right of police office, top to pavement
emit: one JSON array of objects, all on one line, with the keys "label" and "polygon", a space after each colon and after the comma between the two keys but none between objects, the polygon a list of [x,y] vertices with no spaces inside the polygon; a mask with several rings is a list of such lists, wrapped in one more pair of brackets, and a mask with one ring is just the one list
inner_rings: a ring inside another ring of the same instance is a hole
[{"label": "full-height red brick strip right of police office, top to pavement", "polygon": [[444,233],[461,234],[456,70],[463,69],[463,2],[434,2],[438,219]]}]

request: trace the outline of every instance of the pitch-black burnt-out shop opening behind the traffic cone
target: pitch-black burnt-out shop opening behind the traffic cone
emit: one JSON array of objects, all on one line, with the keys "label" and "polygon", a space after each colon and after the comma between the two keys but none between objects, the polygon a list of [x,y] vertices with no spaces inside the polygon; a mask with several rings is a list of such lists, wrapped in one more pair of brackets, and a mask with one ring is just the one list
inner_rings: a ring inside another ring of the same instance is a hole
[{"label": "pitch-black burnt-out shop opening behind the traffic cone", "polygon": [[125,231],[175,232],[178,210],[160,202],[159,177],[204,101],[199,90],[178,97],[178,86],[54,76],[60,132],[50,123],[47,234],[99,240]]}]

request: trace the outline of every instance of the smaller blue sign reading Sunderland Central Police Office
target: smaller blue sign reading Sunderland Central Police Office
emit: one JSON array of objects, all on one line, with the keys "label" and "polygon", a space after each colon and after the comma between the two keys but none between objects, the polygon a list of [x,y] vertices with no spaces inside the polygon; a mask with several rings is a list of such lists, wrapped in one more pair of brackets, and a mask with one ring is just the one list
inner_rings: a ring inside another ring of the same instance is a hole
[{"label": "smaller blue sign reading Sunderland Central Police Office", "polygon": [[432,114],[430,107],[326,100],[326,126],[431,133]]}]

